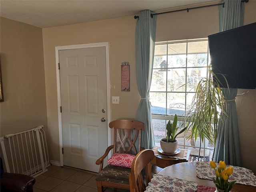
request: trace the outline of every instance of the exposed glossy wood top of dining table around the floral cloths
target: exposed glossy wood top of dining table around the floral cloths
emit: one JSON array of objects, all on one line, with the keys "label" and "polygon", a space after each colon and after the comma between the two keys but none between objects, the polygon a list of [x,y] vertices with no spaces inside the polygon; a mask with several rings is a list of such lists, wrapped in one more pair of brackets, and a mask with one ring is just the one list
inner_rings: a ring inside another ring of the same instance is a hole
[{"label": "exposed glossy wood top of dining table around the floral cloths", "polygon": [[[160,175],[170,176],[172,178],[178,178],[187,181],[193,181],[198,186],[215,188],[213,180],[202,179],[197,177],[196,162],[184,162],[168,166],[158,172]],[[254,173],[252,173],[254,174]],[[255,175],[254,175],[255,176]],[[201,190],[204,191],[204,190]],[[209,191],[209,190],[206,190]],[[236,183],[231,189],[232,192],[256,192],[256,186],[238,184]]]}]

